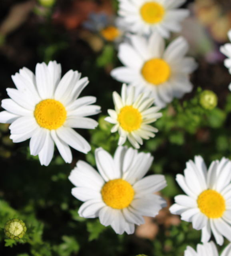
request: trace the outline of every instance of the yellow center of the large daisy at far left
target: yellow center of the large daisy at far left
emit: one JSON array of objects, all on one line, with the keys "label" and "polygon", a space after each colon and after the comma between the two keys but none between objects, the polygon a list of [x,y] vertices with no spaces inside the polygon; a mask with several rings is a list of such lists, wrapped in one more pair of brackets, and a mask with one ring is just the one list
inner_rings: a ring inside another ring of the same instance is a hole
[{"label": "yellow center of the large daisy at far left", "polygon": [[64,124],[67,112],[64,105],[52,99],[40,101],[34,110],[34,117],[39,126],[56,130]]}]

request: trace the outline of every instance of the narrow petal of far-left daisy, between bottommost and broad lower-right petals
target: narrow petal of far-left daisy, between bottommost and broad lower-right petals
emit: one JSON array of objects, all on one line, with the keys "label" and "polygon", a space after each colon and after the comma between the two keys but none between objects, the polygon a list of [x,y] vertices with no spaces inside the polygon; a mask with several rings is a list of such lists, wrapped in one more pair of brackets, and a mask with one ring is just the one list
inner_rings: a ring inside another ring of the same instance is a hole
[{"label": "narrow petal of far-left daisy, between bottommost and broad lower-right petals", "polygon": [[56,130],[51,130],[51,136],[64,161],[70,164],[72,162],[72,152],[68,144],[66,144],[63,140],[58,138]]}]

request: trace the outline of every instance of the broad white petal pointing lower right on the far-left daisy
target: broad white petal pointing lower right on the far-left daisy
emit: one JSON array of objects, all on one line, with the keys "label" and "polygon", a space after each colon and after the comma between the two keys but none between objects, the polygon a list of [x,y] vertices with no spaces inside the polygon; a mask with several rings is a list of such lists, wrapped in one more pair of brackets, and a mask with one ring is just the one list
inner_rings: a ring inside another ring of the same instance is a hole
[{"label": "broad white petal pointing lower right on the far-left daisy", "polygon": [[60,127],[56,130],[58,137],[72,148],[87,154],[91,150],[90,144],[77,132],[69,127]]}]

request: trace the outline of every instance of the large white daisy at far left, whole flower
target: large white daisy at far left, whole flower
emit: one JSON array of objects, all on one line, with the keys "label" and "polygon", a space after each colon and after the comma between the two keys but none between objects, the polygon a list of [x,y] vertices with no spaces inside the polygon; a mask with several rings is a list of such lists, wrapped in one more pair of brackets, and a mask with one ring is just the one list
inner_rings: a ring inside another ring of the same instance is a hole
[{"label": "large white daisy at far left, whole flower", "polygon": [[78,71],[70,70],[60,80],[61,65],[56,61],[36,65],[35,75],[22,68],[12,76],[17,89],[7,88],[10,99],[2,100],[0,122],[11,123],[10,138],[22,142],[30,138],[30,153],[48,165],[56,144],[65,162],[72,162],[72,148],[87,153],[89,143],[72,128],[94,129],[98,123],[86,116],[98,114],[96,98],[78,98],[88,84]]}]

